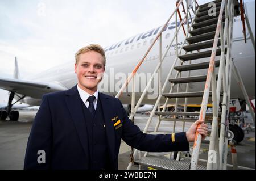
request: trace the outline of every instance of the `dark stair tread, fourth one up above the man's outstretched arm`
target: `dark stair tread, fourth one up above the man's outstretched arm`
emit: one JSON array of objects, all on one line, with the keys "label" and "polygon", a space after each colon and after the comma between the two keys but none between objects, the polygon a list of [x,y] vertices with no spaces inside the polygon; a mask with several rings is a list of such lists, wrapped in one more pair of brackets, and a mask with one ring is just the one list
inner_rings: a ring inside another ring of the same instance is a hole
[{"label": "dark stair tread, fourth one up above the man's outstretched arm", "polygon": [[[208,69],[209,64],[210,64],[210,62],[201,62],[201,63],[197,63],[197,64],[175,66],[174,69],[177,71]],[[220,60],[215,61],[215,66],[216,67],[220,66]]]}]

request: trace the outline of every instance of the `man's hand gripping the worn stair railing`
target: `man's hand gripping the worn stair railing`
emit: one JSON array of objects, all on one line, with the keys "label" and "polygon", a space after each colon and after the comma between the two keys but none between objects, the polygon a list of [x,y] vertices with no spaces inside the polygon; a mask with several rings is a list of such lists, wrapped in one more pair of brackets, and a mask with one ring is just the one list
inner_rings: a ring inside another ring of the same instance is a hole
[{"label": "man's hand gripping the worn stair railing", "polygon": [[[201,124],[199,128],[197,128],[198,124]],[[208,133],[208,125],[203,124],[203,121],[201,120],[195,121],[195,123],[193,123],[191,127],[188,129],[188,131],[186,132],[188,142],[192,142],[195,140],[197,131],[199,132],[199,134],[202,135],[202,140],[204,140]]]}]

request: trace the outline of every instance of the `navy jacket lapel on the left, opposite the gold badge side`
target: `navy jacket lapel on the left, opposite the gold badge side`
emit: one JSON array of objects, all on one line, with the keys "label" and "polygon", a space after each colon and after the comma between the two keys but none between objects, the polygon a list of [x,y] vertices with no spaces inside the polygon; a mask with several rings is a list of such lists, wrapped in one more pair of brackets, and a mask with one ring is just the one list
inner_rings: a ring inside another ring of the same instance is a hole
[{"label": "navy jacket lapel on the left, opposite the gold badge side", "polygon": [[85,151],[85,154],[88,156],[88,148],[86,142],[88,142],[87,129],[84,121],[84,116],[82,113],[81,98],[77,87],[72,87],[67,90],[65,94],[65,102],[67,103],[69,113],[71,114],[72,120],[75,123],[76,131],[79,135],[82,148]]}]

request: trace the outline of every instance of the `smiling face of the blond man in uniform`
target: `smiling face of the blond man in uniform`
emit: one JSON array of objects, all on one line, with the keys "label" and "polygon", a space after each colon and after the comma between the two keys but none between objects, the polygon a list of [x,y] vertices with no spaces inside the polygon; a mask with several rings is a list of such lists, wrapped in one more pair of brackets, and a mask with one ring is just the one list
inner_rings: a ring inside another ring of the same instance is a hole
[{"label": "smiling face of the blond man in uniform", "polygon": [[101,81],[104,71],[104,58],[100,53],[90,50],[80,54],[79,61],[75,64],[77,85],[92,95],[97,91],[97,85]]}]

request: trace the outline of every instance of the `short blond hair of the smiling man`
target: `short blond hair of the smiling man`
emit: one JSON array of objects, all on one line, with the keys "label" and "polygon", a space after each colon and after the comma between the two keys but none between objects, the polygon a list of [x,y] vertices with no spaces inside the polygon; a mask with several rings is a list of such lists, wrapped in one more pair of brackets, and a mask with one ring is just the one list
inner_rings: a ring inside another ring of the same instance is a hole
[{"label": "short blond hair of the smiling man", "polygon": [[76,64],[79,61],[79,55],[89,52],[89,51],[94,51],[94,52],[100,53],[101,56],[103,57],[103,65],[105,66],[105,64],[106,64],[105,51],[101,47],[101,45],[98,45],[98,44],[90,44],[90,45],[87,45],[86,47],[82,47],[81,49],[79,49],[75,54]]}]

